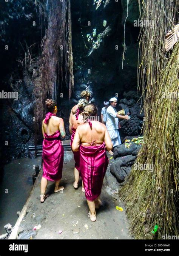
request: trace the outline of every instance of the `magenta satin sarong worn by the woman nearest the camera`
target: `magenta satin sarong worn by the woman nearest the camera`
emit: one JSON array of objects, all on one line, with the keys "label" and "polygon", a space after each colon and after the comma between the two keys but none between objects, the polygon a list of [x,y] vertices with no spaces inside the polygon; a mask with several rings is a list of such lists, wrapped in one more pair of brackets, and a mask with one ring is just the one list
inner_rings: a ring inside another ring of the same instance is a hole
[{"label": "magenta satin sarong worn by the woman nearest the camera", "polygon": [[89,201],[100,196],[108,163],[105,142],[100,146],[80,145],[80,174]]}]

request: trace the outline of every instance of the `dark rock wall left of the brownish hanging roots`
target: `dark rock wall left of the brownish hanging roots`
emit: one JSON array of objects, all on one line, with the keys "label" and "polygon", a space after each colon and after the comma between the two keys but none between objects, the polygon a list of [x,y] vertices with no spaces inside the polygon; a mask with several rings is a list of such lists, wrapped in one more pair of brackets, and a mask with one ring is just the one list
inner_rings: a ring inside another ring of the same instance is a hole
[{"label": "dark rock wall left of the brownish hanging roots", "polygon": [[17,101],[0,99],[1,163],[26,157],[28,145],[34,144],[32,75],[38,70],[40,43],[45,35],[43,14],[39,1],[37,6],[33,0],[0,2],[0,91],[18,93]]}]

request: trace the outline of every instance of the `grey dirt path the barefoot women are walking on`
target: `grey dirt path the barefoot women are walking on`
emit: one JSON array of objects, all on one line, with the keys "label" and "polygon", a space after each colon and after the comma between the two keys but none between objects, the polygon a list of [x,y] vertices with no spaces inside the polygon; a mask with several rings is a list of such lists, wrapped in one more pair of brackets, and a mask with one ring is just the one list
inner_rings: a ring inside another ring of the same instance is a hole
[{"label": "grey dirt path the barefoot women are walking on", "polygon": [[[88,217],[85,193],[81,192],[81,182],[77,190],[73,188],[72,152],[65,152],[64,162],[60,185],[65,189],[53,193],[54,183],[49,182],[47,192],[50,195],[41,204],[39,177],[30,198],[28,213],[20,225],[19,239],[133,239],[128,233],[125,208],[113,194],[119,186],[109,167],[101,194],[103,206],[97,210],[96,222],[92,222]],[[123,207],[123,212],[116,210],[116,206]],[[42,226],[38,231],[32,231],[35,225]],[[59,234],[59,231],[63,232]]]}]

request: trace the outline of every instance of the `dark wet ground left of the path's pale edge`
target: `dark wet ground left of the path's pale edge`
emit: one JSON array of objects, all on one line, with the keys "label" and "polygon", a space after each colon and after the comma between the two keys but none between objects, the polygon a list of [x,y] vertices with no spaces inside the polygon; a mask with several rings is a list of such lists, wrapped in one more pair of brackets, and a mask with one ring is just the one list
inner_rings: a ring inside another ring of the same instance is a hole
[{"label": "dark wet ground left of the path's pale edge", "polygon": [[0,235],[6,233],[7,223],[15,225],[17,212],[23,208],[33,186],[33,165],[41,166],[41,162],[41,157],[12,160],[0,173]]}]

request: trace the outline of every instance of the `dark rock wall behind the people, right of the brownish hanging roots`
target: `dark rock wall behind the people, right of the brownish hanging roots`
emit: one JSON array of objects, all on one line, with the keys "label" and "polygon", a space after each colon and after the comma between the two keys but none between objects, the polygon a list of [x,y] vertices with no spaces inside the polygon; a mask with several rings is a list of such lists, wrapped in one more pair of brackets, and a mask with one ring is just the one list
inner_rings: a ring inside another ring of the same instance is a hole
[{"label": "dark rock wall behind the people, right of the brownish hanging roots", "polygon": [[[136,104],[140,98],[137,93],[137,38],[139,28],[134,27],[134,20],[139,18],[138,0],[130,1],[128,10],[129,16],[125,24],[125,60],[122,69],[123,54],[123,33],[124,21],[127,15],[126,1],[101,2],[99,8],[94,1],[71,1],[72,13],[72,38],[73,38],[73,58],[74,58],[74,92],[71,98],[71,105],[68,106],[67,96],[61,100],[60,105],[64,106],[65,116],[69,116],[70,108],[80,99],[80,91],[88,88],[92,94],[92,102],[99,108],[98,114],[103,107],[103,101],[118,95],[119,101],[128,97],[134,99],[133,104],[125,105],[132,108],[133,120],[122,121],[120,133],[122,137],[126,135],[138,135],[142,127],[141,106]],[[106,25],[103,22],[106,20]],[[90,25],[88,25],[91,22]],[[107,33],[100,40],[100,46],[93,49],[93,42],[97,41],[97,35],[102,34],[107,29]],[[96,29],[96,36],[93,31]],[[88,37],[87,37],[88,35]],[[88,40],[89,35],[93,37],[93,42]],[[116,50],[118,46],[118,50]],[[91,53],[91,54],[89,54]],[[133,91],[134,96],[124,94]],[[119,102],[120,103],[120,102]],[[121,107],[119,106],[120,110]],[[139,118],[140,117],[140,118]],[[136,127],[135,127],[136,126]]]}]

